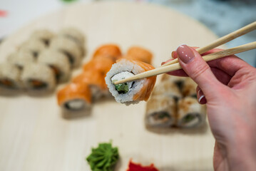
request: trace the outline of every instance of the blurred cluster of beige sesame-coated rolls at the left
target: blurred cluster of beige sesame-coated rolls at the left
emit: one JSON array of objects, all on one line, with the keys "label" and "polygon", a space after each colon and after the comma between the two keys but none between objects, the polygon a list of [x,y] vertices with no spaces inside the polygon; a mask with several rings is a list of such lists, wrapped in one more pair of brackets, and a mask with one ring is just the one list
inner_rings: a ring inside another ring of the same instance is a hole
[{"label": "blurred cluster of beige sesame-coated rolls at the left", "polygon": [[83,33],[76,28],[63,28],[59,33],[34,31],[1,64],[0,87],[53,90],[57,83],[68,81],[71,69],[81,63],[84,43]]}]

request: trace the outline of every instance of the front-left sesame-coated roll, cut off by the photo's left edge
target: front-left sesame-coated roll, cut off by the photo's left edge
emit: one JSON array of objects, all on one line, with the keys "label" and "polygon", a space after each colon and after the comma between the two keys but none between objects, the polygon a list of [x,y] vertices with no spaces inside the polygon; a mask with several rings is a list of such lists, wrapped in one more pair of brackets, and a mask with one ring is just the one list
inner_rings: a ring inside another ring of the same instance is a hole
[{"label": "front-left sesame-coated roll, cut off by the photo's left edge", "polygon": [[0,64],[0,88],[18,89],[21,88],[21,71],[14,64]]}]

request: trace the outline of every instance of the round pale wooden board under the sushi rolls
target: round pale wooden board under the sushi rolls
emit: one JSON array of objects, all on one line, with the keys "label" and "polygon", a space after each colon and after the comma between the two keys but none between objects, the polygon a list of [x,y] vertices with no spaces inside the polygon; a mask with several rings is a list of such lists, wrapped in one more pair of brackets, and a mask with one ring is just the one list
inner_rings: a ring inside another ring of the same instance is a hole
[{"label": "round pale wooden board under the sushi rolls", "polygon": [[[123,52],[133,45],[150,49],[154,65],[159,66],[182,43],[204,46],[217,38],[198,21],[162,6],[75,4],[9,36],[0,46],[0,62],[35,29],[58,31],[65,26],[75,26],[86,35],[85,61],[101,44],[118,43]],[[1,95],[0,107],[1,171],[90,170],[85,157],[91,147],[110,140],[120,151],[116,170],[126,170],[130,158],[144,165],[154,162],[163,171],[213,170],[214,139],[208,125],[199,130],[151,132],[143,122],[145,102],[126,106],[102,100],[91,113],[71,118],[63,117],[55,93]]]}]

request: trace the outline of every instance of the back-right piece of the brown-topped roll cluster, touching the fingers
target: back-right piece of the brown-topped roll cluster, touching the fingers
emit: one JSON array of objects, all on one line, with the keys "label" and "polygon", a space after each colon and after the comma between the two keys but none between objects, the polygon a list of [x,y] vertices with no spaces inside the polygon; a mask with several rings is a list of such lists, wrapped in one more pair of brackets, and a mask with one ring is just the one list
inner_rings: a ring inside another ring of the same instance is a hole
[{"label": "back-right piece of the brown-topped roll cluster, touching the fingers", "polygon": [[191,78],[186,78],[186,80],[183,84],[183,88],[181,89],[183,96],[184,97],[191,96],[193,98],[197,98],[197,96],[196,96],[196,87],[197,86],[198,85]]}]

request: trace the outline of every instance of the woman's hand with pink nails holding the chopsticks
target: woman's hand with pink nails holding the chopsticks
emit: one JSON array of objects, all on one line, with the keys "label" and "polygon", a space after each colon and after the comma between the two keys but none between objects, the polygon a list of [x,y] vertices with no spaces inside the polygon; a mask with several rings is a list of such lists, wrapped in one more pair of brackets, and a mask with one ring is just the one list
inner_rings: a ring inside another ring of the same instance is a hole
[{"label": "woman's hand with pink nails holding the chopsticks", "polygon": [[[208,53],[220,51],[213,49]],[[206,103],[215,137],[215,170],[256,170],[256,68],[237,56],[206,63],[186,45],[173,57],[183,70],[173,76],[190,76],[198,83],[198,101]]]}]

